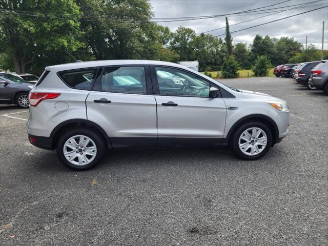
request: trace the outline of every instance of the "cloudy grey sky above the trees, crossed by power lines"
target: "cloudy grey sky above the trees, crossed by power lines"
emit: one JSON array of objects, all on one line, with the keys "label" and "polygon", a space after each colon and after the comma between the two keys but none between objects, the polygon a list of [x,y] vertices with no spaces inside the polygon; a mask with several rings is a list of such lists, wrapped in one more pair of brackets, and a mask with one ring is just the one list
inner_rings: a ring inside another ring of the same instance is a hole
[{"label": "cloudy grey sky above the trees, crossed by power lines", "polygon": [[[276,3],[281,3],[283,1],[286,0],[150,0],[156,18],[208,16],[236,13],[240,11],[246,11],[250,9],[273,5]],[[302,13],[327,5],[328,0],[290,0],[288,2],[275,6],[261,8],[259,9],[261,10],[259,12],[253,12],[248,14],[243,13],[242,16],[228,16],[229,24],[233,25],[236,23],[244,22],[245,20],[272,14],[267,17],[255,19],[250,22],[232,26],[230,27],[230,31],[232,32],[243,28],[248,28],[251,26],[270,22],[275,19],[283,18],[297,13]],[[279,12],[273,13],[271,11]],[[256,34],[260,34],[262,36],[268,34],[270,37],[278,38],[281,36],[294,37],[296,40],[304,44],[305,47],[305,36],[308,35],[308,44],[312,43],[314,45],[317,45],[317,47],[321,49],[323,21],[325,22],[324,49],[328,49],[328,8],[323,8],[313,12],[294,16],[288,19],[279,20],[275,23],[234,33],[232,34],[233,42],[243,42],[250,44],[252,43],[252,40],[254,39]],[[190,27],[194,29],[196,33],[200,33],[224,27],[225,20],[224,17],[216,17],[159,24],[168,26],[172,31],[176,30],[176,28],[179,26],[183,26]],[[213,35],[224,34],[224,29],[212,31],[209,33]]]}]

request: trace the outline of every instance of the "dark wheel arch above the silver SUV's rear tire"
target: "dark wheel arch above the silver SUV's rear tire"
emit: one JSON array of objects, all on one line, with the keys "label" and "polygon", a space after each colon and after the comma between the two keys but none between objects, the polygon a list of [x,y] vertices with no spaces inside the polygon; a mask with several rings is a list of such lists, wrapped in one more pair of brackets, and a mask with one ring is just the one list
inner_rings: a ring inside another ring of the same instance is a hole
[{"label": "dark wheel arch above the silver SUV's rear tire", "polygon": [[112,148],[112,144],[111,144],[108,134],[98,124],[96,124],[95,122],[90,121],[88,119],[69,119],[69,120],[61,122],[50,133],[52,149],[56,148],[57,141],[60,137],[60,133],[66,132],[66,131],[68,131],[70,129],[74,129],[76,127],[85,127],[87,129],[93,129],[94,131],[98,132],[99,135],[103,138],[107,147]]}]

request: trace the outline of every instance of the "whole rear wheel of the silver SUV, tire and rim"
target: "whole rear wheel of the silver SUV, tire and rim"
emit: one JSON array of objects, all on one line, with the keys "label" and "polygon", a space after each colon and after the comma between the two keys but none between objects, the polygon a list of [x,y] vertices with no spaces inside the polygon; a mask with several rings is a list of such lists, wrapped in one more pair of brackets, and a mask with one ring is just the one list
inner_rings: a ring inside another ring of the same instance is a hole
[{"label": "whole rear wheel of the silver SUV, tire and rim", "polygon": [[105,154],[105,142],[97,133],[80,128],[64,133],[57,142],[57,156],[74,170],[95,167]]}]

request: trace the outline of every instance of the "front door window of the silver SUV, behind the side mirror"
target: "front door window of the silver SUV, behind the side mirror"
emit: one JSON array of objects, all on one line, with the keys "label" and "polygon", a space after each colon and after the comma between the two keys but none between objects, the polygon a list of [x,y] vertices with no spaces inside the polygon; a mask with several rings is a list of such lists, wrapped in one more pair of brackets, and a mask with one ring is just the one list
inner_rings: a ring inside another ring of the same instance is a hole
[{"label": "front door window of the silver SUV, behind the side mirror", "polygon": [[192,73],[165,67],[156,67],[160,95],[209,97],[210,83]]}]

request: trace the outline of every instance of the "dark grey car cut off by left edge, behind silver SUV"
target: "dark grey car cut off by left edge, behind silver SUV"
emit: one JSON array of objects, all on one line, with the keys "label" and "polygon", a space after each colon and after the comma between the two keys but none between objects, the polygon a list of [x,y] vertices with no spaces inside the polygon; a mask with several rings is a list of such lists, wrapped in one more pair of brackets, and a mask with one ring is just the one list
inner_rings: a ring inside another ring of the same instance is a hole
[{"label": "dark grey car cut off by left edge, behind silver SUV", "polygon": [[34,85],[9,73],[0,73],[0,104],[16,104],[29,107],[29,92]]}]

